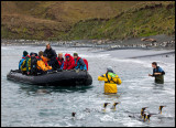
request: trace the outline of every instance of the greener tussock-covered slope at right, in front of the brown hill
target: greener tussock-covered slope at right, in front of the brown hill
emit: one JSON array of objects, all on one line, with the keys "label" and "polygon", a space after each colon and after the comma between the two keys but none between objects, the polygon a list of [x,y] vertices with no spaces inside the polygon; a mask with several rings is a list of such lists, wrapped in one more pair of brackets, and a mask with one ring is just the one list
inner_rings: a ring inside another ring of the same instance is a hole
[{"label": "greener tussock-covered slope at right, in front of the brown hill", "polygon": [[139,4],[113,19],[81,21],[68,39],[127,39],[175,34],[175,2]]}]

